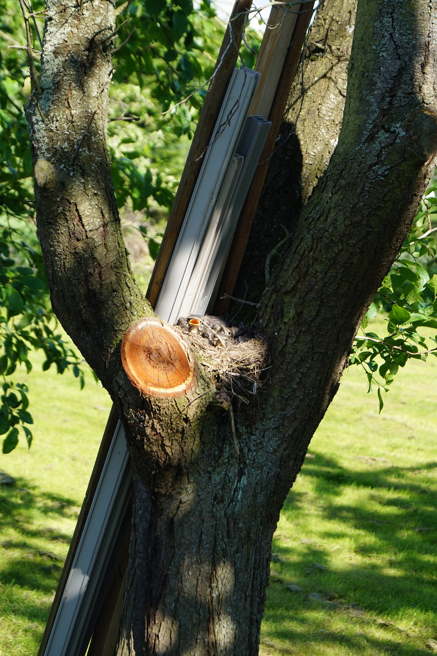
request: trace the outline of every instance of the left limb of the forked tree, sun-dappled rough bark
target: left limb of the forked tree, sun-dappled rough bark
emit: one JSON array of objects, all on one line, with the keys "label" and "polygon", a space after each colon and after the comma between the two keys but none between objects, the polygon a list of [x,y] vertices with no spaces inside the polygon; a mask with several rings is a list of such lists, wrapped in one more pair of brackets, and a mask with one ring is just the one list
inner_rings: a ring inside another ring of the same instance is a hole
[{"label": "left limb of the forked tree, sun-dappled rough bark", "polygon": [[41,92],[26,108],[38,236],[54,311],[108,386],[115,344],[152,314],[131,274],[106,148],[114,5],[48,0],[47,12]]}]

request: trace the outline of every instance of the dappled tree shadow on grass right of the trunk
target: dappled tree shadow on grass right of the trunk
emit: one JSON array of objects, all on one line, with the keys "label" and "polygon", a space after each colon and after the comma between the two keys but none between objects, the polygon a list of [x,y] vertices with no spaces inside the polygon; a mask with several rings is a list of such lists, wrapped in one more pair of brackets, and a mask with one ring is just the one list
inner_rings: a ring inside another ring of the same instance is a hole
[{"label": "dappled tree shadow on grass right of the trunk", "polygon": [[[274,538],[262,645],[275,654],[429,654],[427,639],[437,634],[437,494],[423,475],[437,462],[398,468],[363,457],[356,472],[313,455],[302,471],[312,491],[297,485],[282,510],[296,534],[285,539],[282,528]],[[299,534],[311,514],[320,526]],[[291,582],[301,592],[287,588]]]}]

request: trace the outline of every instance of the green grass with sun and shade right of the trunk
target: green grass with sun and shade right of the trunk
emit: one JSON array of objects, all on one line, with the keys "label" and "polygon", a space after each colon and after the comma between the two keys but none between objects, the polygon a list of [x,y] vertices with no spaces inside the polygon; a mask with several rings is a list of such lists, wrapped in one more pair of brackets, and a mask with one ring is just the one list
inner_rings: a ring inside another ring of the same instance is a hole
[{"label": "green grass with sun and shade right of the trunk", "polygon": [[360,371],[344,375],[281,512],[262,656],[430,653],[427,640],[437,639],[436,380],[435,358],[408,363],[378,415]]}]

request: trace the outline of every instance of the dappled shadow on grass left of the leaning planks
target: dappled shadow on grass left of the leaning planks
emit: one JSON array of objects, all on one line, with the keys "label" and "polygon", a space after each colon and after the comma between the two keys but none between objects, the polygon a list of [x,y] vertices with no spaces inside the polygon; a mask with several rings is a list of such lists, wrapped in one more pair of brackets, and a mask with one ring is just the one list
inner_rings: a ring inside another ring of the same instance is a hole
[{"label": "dappled shadow on grass left of the leaning planks", "polygon": [[72,499],[21,478],[0,485],[0,615],[22,619],[39,639],[72,538],[64,524],[70,520],[73,530],[78,510]]}]

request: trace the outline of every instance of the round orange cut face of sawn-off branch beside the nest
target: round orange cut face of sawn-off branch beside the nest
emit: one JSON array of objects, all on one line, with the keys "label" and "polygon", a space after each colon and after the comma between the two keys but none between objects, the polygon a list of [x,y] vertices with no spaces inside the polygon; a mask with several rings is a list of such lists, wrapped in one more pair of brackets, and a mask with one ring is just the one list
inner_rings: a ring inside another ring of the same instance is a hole
[{"label": "round orange cut face of sawn-off branch beside the nest", "polygon": [[182,396],[196,380],[196,358],[190,346],[156,318],[131,325],[121,342],[121,361],[131,382],[148,396]]}]

